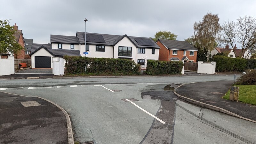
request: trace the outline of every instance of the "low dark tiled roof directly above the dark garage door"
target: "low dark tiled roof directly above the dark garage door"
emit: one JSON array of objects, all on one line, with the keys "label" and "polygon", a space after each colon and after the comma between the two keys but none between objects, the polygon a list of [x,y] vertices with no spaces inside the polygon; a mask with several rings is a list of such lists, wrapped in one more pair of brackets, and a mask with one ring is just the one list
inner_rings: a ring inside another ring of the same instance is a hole
[{"label": "low dark tiled roof directly above the dark garage door", "polygon": [[52,49],[51,44],[32,44],[30,55],[34,54],[41,48],[44,48],[54,57],[63,57],[64,55],[81,56],[79,50]]}]

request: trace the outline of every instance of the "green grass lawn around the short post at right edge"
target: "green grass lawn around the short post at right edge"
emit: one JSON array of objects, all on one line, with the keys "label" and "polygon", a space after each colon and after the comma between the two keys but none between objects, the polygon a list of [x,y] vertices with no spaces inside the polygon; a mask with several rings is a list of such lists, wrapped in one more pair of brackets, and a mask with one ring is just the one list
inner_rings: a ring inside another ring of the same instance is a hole
[{"label": "green grass lawn around the short post at right edge", "polygon": [[[256,105],[256,85],[234,85],[239,87],[238,101]],[[223,97],[223,99],[229,100],[230,89]]]}]

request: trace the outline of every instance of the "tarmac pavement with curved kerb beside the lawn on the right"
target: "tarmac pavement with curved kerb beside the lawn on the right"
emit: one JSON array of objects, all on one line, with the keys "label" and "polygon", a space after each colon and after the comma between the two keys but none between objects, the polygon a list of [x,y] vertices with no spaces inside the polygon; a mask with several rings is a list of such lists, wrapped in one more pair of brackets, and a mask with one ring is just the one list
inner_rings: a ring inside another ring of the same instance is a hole
[{"label": "tarmac pavement with curved kerb beside the lawn on the right", "polygon": [[256,123],[256,106],[222,99],[233,81],[216,81],[184,84],[174,93],[193,104],[240,117]]}]

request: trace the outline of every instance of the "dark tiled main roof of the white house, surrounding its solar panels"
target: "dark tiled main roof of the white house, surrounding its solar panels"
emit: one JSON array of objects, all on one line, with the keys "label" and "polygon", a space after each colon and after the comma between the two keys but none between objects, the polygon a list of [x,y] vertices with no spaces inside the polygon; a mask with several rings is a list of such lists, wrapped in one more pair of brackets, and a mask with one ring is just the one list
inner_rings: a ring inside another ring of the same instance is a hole
[{"label": "dark tiled main roof of the white house, surrounding its solar panels", "polygon": [[[76,32],[76,36],[78,37],[79,43],[80,44],[84,44],[84,32]],[[86,34],[92,34],[92,35],[101,35],[103,36],[105,43],[97,43],[97,42],[88,42],[86,40],[86,44],[99,44],[99,45],[109,45],[109,46],[113,46],[116,43],[118,43],[121,39],[123,39],[124,37],[127,37],[136,47],[138,48],[156,48],[159,49],[160,47],[149,37],[136,37],[136,36],[127,36],[127,35],[123,35],[123,36],[119,36],[119,35],[109,35],[109,34],[98,34],[98,33],[86,33]],[[136,40],[134,38],[144,38],[144,39],[149,39],[154,46],[146,46],[146,45],[139,45]]]}]

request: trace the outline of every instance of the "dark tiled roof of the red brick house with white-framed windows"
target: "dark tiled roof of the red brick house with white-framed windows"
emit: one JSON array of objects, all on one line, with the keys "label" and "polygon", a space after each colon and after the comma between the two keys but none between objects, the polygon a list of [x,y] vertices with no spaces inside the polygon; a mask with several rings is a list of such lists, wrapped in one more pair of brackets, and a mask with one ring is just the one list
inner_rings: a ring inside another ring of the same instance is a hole
[{"label": "dark tiled roof of the red brick house with white-framed windows", "polygon": [[176,40],[166,40],[159,39],[168,49],[174,50],[188,50],[188,51],[198,51],[192,44],[187,41],[176,41]]}]

